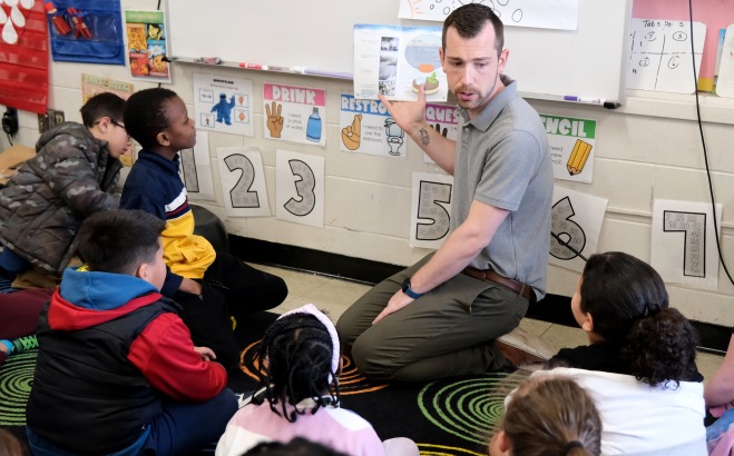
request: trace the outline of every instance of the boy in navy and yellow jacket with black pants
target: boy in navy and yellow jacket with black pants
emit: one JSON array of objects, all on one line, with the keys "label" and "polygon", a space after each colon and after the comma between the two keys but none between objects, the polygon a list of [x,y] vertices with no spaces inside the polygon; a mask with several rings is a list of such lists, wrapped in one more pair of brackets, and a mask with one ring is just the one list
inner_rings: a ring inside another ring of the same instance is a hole
[{"label": "boy in navy and yellow jacket with black pants", "polygon": [[141,209],[166,222],[162,237],[168,266],[162,293],[183,308],[194,343],[212,347],[229,370],[239,367],[231,316],[271,309],[287,296],[280,277],[215,251],[194,235],[194,214],[178,176],[182,149],[196,143],[194,120],[176,92],[154,88],[134,93],[125,126],[143,146],[125,181],[120,207]]}]

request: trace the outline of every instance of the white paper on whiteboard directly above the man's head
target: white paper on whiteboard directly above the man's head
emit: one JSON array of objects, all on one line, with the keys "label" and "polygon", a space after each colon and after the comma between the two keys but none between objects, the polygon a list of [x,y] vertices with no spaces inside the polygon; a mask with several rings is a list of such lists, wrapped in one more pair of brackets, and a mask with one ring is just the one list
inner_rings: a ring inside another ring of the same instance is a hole
[{"label": "white paper on whiteboard directly above the man's head", "polygon": [[[443,22],[466,1],[400,0],[399,18]],[[481,2],[480,2],[481,3]],[[578,0],[503,0],[486,3],[505,26],[576,30]]]}]

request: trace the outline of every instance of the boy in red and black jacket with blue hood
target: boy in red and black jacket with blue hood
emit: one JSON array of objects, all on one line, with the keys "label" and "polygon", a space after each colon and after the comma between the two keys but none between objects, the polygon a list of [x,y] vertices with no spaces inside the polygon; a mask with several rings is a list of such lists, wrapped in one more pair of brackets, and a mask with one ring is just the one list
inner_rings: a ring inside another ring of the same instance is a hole
[{"label": "boy in red and black jacket with blue hood", "polygon": [[35,455],[180,455],[216,442],[237,409],[216,355],[195,347],[166,277],[165,222],[141,210],[81,226],[88,266],[41,311],[26,409]]}]

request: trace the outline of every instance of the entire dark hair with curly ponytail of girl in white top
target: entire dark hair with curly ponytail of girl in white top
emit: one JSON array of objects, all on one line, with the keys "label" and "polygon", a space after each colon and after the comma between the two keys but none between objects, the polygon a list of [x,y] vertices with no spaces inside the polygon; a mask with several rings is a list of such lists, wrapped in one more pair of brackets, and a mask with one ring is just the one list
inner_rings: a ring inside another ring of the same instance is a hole
[{"label": "entire dark hair with curly ponytail of girl in white top", "polygon": [[622,251],[593,255],[581,275],[580,309],[594,333],[622,348],[632,375],[652,386],[695,380],[696,334],[668,308],[663,279],[652,266]]}]

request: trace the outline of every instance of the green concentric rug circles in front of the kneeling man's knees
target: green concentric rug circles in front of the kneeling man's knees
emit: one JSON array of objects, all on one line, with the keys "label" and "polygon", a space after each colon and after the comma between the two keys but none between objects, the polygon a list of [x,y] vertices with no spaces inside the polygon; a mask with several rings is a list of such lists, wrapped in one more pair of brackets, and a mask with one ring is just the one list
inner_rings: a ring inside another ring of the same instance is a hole
[{"label": "green concentric rug circles in front of the kneeling man's knees", "polygon": [[505,397],[523,379],[520,375],[485,374],[462,380],[432,381],[418,395],[418,406],[437,427],[486,445],[497,430]]}]

